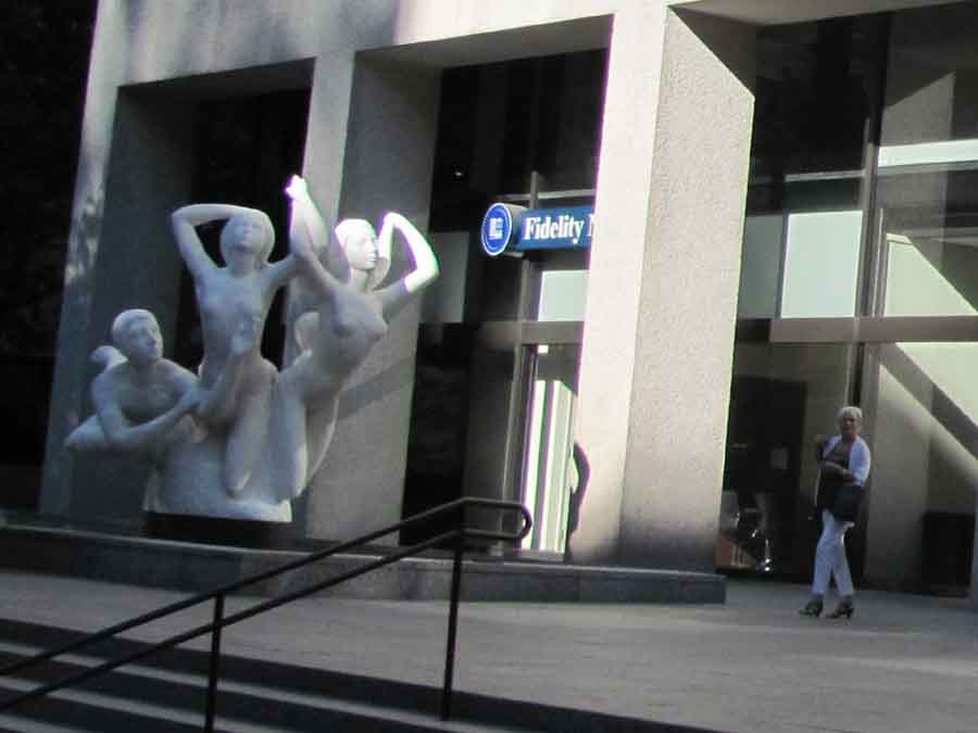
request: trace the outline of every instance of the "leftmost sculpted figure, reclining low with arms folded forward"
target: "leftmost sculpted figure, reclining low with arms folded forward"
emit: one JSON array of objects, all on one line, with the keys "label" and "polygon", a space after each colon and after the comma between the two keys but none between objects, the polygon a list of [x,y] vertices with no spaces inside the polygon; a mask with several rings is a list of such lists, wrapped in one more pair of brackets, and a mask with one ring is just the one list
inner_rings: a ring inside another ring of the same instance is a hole
[{"label": "leftmost sculpted figure, reclining low with arms folded forward", "polygon": [[67,446],[78,451],[136,451],[155,460],[192,421],[175,430],[198,405],[197,377],[163,358],[160,326],[149,311],[123,311],[112,324],[112,346],[92,358],[104,369],[91,383],[96,414],[76,428]]}]

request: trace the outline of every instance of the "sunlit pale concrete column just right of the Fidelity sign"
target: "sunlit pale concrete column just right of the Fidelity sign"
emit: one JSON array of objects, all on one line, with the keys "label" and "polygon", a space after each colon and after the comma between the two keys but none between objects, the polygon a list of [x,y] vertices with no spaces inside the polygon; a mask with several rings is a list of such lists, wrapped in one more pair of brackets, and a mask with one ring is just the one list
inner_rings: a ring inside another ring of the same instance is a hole
[{"label": "sunlit pale concrete column just right of the Fidelity sign", "polygon": [[713,570],[754,59],[745,25],[657,3],[615,17],[581,354],[577,438],[592,472],[579,560]]}]

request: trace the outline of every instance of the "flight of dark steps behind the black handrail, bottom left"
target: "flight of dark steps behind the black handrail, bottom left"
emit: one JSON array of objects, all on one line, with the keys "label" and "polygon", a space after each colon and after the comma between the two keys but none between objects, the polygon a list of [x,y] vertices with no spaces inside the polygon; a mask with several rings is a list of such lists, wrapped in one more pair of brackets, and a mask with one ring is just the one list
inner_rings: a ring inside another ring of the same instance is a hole
[{"label": "flight of dark steps behind the black handrail, bottom left", "polygon": [[[78,636],[75,631],[41,624],[0,623],[0,664]],[[108,640],[92,653],[65,655],[18,677],[0,679],[0,694],[7,697],[14,691],[60,679],[145,646],[136,640]],[[199,731],[203,723],[206,670],[205,652],[170,649],[78,687],[26,703],[14,715],[0,717],[0,726],[38,733]],[[438,688],[426,685],[228,655],[222,658],[217,726],[234,733],[695,730],[465,692],[456,692],[453,698],[453,720],[442,722],[436,715],[439,695]]]}]

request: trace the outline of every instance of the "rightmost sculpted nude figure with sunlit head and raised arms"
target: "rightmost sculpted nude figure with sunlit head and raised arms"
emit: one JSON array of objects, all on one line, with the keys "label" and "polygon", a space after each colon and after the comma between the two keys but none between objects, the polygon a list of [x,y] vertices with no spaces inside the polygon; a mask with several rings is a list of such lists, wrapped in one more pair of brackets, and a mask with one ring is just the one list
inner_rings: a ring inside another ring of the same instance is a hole
[{"label": "rightmost sculpted nude figure with sunlit head and raised arms", "polygon": [[[305,448],[271,452],[284,457],[277,473],[294,496],[323,460],[347,380],[387,333],[391,318],[438,276],[438,262],[422,233],[396,213],[384,217],[379,237],[363,219],[340,222],[331,243],[305,181],[294,176],[287,192],[291,256],[317,299],[315,311],[294,326],[301,353],[279,376],[269,431],[280,446]],[[390,266],[394,230],[404,237],[414,269],[378,289]]]}]

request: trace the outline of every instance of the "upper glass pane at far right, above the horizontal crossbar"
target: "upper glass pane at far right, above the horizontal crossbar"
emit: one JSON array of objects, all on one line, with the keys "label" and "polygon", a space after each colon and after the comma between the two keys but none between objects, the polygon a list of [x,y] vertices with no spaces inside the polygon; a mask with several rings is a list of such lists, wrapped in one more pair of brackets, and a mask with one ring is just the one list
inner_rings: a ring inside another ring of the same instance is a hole
[{"label": "upper glass pane at far right, above the horizontal crossbar", "polygon": [[886,316],[978,314],[974,3],[893,16],[877,188]]}]

